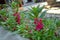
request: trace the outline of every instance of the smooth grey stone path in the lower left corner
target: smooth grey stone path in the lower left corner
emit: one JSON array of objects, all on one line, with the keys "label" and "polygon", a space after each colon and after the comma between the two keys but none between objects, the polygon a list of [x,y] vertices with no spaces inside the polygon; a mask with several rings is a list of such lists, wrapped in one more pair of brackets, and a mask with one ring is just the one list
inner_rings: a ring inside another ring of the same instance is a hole
[{"label": "smooth grey stone path in the lower left corner", "polygon": [[0,27],[0,40],[28,40],[26,38],[20,37],[18,34],[8,32]]}]

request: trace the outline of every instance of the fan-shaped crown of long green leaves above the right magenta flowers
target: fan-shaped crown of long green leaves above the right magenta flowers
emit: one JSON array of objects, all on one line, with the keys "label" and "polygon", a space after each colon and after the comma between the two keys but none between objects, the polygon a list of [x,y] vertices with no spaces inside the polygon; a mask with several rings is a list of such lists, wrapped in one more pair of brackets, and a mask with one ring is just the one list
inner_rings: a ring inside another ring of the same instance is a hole
[{"label": "fan-shaped crown of long green leaves above the right magenta flowers", "polygon": [[30,12],[29,12],[29,16],[30,18],[43,18],[45,16],[46,11],[42,11],[44,9],[43,7],[40,7],[40,5],[36,6],[36,7],[31,7],[31,9],[29,8]]}]

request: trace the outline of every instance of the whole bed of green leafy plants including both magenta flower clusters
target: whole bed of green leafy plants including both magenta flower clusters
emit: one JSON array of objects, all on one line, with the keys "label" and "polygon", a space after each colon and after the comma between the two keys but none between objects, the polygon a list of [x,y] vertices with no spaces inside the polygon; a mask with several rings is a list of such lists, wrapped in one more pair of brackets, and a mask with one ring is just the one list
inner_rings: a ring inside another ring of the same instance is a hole
[{"label": "whole bed of green leafy plants including both magenta flower clusters", "polygon": [[[15,4],[13,2],[13,9],[16,7]],[[54,18],[45,19],[46,11],[42,11],[43,8],[44,6],[40,7],[39,5],[32,7],[29,9],[28,14],[26,12],[19,13],[18,9],[16,12],[1,10],[0,15],[3,18],[6,17],[5,21],[1,21],[1,25],[10,31],[17,31],[21,36],[31,40],[58,40],[56,24],[59,23],[56,23]],[[20,24],[16,20],[19,20]]]}]

